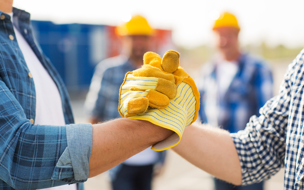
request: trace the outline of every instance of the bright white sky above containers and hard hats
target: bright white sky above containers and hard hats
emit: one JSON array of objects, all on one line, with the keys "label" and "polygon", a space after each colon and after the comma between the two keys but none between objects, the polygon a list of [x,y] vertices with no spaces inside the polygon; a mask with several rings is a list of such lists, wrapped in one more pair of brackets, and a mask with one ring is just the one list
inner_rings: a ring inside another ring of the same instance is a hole
[{"label": "bright white sky above containers and hard hats", "polygon": [[117,25],[130,14],[145,16],[154,28],[172,29],[177,45],[212,43],[212,17],[237,16],[242,45],[304,47],[303,0],[14,0],[34,20]]}]

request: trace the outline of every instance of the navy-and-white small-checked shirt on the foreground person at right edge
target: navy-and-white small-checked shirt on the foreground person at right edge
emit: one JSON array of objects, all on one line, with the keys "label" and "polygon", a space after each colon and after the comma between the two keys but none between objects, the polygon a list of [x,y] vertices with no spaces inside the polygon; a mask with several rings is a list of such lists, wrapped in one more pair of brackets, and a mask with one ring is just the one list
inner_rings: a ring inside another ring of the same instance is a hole
[{"label": "navy-and-white small-checked shirt on the foreground person at right edge", "polygon": [[285,167],[284,189],[304,189],[304,49],[289,64],[279,95],[231,133],[239,154],[243,185],[270,178]]}]

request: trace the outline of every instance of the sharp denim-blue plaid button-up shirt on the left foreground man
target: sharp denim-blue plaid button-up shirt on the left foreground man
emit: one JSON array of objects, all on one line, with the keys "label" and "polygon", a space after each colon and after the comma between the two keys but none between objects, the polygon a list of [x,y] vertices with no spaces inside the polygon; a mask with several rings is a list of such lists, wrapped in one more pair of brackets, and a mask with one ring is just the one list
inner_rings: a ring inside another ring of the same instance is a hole
[{"label": "sharp denim-blue plaid button-up shirt on the left foreground man", "polygon": [[[84,182],[92,150],[92,125],[74,123],[59,74],[33,38],[29,13],[13,8],[14,25],[55,81],[66,126],[34,125],[36,97],[10,16],[0,20],[0,189],[40,189]],[[78,185],[83,189],[83,185]]]}]

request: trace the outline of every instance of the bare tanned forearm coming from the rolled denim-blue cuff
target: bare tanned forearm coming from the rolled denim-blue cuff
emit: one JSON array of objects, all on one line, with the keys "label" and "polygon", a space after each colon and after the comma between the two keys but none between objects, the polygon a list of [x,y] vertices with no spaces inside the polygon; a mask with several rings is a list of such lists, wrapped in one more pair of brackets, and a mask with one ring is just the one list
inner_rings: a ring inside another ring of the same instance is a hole
[{"label": "bare tanned forearm coming from the rolled denim-blue cuff", "polygon": [[93,125],[89,178],[113,168],[172,133],[150,122],[127,118]]}]

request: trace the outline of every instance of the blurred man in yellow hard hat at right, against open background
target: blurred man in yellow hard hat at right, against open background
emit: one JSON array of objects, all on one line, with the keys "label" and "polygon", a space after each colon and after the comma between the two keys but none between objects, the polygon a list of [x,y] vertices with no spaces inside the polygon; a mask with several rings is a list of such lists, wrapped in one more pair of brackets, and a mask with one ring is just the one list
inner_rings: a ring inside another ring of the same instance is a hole
[{"label": "blurred man in yellow hard hat at right, against open background", "polygon": [[[203,67],[198,85],[202,123],[235,133],[243,130],[252,115],[272,97],[272,74],[263,60],[242,53],[238,45],[240,27],[235,16],[221,14],[213,26],[219,55]],[[234,186],[217,178],[216,190],[259,190],[263,182]]]}]

